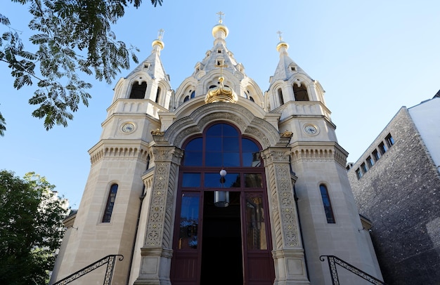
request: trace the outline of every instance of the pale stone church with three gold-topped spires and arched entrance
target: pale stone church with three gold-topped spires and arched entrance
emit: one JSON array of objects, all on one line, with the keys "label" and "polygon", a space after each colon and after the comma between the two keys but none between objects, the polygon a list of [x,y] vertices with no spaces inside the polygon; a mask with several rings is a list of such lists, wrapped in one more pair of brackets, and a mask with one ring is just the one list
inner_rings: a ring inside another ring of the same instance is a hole
[{"label": "pale stone church with three gold-topped spires and arched entrance", "polygon": [[[382,279],[321,84],[280,39],[263,92],[221,20],[212,36],[175,91],[161,36],[117,82],[52,282],[112,254],[112,284],[332,284],[325,256]],[[86,271],[79,284],[106,274]]]}]

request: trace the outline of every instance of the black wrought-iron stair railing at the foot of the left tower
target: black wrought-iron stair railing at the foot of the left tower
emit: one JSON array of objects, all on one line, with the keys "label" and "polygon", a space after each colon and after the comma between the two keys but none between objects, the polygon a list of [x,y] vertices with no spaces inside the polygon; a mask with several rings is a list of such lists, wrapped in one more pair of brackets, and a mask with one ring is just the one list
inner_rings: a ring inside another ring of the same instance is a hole
[{"label": "black wrought-iron stair railing at the foot of the left tower", "polygon": [[88,265],[81,270],[78,270],[77,272],[70,274],[69,276],[65,277],[64,279],[61,279],[60,281],[54,283],[53,285],[64,285],[67,283],[70,283],[74,281],[75,279],[78,279],[79,277],[84,276],[85,274],[96,270],[96,268],[101,267],[105,264],[107,264],[107,269],[105,270],[105,276],[104,276],[104,285],[110,285],[112,281],[113,276],[113,268],[115,268],[115,260],[116,257],[120,256],[119,260],[123,260],[124,256],[121,254],[113,254],[110,256],[105,256],[104,258],[101,258],[100,260],[92,263],[91,265]]}]

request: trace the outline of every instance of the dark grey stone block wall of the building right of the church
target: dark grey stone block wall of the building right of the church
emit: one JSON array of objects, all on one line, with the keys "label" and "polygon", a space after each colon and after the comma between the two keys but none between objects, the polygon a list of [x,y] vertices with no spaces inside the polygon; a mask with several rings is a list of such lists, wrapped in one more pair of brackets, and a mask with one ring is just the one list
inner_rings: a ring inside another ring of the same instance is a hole
[{"label": "dark grey stone block wall of the building right of the church", "polygon": [[[391,133],[394,145],[363,175],[356,169]],[[440,147],[440,146],[439,146]],[[359,212],[389,285],[440,284],[440,175],[406,107],[349,170]]]}]

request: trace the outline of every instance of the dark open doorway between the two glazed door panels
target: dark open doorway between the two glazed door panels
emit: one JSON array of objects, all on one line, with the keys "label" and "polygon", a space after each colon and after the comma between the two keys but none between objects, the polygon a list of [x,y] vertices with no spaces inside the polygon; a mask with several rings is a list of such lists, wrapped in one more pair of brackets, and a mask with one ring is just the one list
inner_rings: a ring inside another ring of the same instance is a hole
[{"label": "dark open doorway between the two glazed door panels", "polygon": [[230,192],[226,208],[204,194],[200,284],[243,284],[240,192]]}]

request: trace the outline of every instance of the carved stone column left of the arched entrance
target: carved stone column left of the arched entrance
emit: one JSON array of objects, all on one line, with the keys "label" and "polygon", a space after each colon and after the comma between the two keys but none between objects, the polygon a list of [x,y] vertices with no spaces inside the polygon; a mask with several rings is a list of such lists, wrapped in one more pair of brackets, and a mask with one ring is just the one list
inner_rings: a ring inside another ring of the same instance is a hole
[{"label": "carved stone column left of the arched entrance", "polygon": [[176,208],[176,183],[182,151],[170,145],[154,145],[155,173],[141,269],[134,284],[171,284],[172,232]]}]

